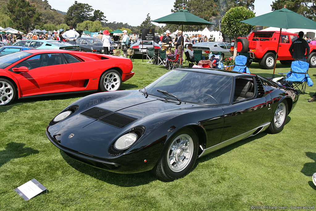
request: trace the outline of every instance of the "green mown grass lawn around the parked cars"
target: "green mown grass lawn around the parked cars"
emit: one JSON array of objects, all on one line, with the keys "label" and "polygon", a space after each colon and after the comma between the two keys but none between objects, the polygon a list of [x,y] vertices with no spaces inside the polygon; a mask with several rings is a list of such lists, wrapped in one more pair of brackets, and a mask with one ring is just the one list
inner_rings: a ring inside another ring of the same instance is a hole
[{"label": "green mown grass lawn around the parked cars", "polygon": [[[133,62],[135,75],[123,90],[139,89],[167,72],[163,66]],[[273,70],[250,65],[271,77]],[[277,63],[277,72],[289,66]],[[278,134],[265,132],[197,159],[192,171],[173,182],[149,172],[116,174],[69,158],[46,137],[51,119],[85,96],[73,94],[17,100],[0,107],[0,210],[250,210],[251,206],[316,206],[315,93],[306,88]],[[277,77],[277,74],[276,74]],[[251,121],[249,122],[251,124]],[[31,179],[47,189],[24,201],[14,191]],[[264,210],[264,208],[259,209]]]}]

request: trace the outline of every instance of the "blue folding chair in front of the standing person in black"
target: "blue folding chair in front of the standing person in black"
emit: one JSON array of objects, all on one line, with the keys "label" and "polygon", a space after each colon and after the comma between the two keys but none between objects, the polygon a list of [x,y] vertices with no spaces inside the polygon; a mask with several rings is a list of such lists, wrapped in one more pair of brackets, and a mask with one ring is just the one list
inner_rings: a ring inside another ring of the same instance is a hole
[{"label": "blue folding chair in front of the standing person in black", "polygon": [[[313,86],[313,81],[308,75],[309,64],[304,61],[293,61],[291,64],[291,70],[286,73],[279,73],[285,79],[285,85],[299,90],[299,95],[301,93],[305,94],[306,84],[308,86]],[[284,74],[286,76],[284,77]],[[293,84],[291,86],[291,84]]]}]

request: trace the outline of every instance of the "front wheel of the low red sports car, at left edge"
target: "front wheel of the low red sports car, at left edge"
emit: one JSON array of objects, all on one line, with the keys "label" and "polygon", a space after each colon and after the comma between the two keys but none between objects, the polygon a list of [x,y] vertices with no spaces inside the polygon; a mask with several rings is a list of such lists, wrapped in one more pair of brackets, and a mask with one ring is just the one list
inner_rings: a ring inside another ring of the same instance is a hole
[{"label": "front wheel of the low red sports car, at left edge", "polygon": [[0,78],[0,105],[8,105],[15,98],[14,85],[5,78]]}]

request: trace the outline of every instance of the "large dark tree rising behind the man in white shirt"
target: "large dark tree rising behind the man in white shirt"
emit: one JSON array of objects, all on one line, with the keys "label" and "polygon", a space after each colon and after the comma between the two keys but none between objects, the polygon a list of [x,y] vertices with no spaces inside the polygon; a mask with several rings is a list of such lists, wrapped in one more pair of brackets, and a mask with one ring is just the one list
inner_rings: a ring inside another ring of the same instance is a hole
[{"label": "large dark tree rising behind the man in white shirt", "polygon": [[92,11],[93,9],[89,4],[75,1],[75,3],[68,8],[65,22],[67,25],[76,27],[77,23],[88,21]]}]

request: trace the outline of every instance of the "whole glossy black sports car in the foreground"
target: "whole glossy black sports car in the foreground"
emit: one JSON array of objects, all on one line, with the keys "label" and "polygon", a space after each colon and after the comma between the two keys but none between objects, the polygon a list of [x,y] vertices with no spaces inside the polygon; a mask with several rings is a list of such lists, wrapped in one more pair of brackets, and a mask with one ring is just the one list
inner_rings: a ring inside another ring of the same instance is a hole
[{"label": "whole glossy black sports car in the foreground", "polygon": [[262,131],[279,133],[296,90],[246,73],[175,69],[141,90],[83,97],[49,123],[71,158],[118,173],[184,177],[196,158]]}]

